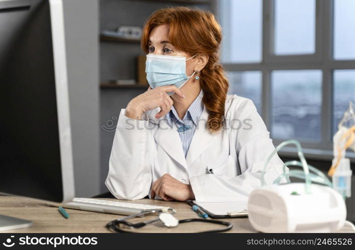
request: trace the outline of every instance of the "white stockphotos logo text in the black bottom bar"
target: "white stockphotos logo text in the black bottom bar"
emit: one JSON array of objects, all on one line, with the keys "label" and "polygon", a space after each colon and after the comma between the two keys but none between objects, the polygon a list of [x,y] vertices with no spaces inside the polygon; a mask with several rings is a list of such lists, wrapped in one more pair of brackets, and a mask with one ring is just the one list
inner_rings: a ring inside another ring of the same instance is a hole
[{"label": "white stockphotos logo text in the black bottom bar", "polygon": [[9,238],[3,242],[6,247],[13,247],[16,245],[47,245],[47,246],[61,246],[61,245],[96,245],[97,237],[82,237],[80,235],[68,237],[68,236],[56,236],[56,237],[36,237],[26,235],[24,237],[19,237],[16,241],[15,236],[11,235]]}]

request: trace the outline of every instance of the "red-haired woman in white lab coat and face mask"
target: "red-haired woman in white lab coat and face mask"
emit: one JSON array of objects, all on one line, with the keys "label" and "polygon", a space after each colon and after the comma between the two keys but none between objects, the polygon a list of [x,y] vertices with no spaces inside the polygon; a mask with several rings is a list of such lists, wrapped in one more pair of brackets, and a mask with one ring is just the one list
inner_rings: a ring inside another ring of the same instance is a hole
[{"label": "red-haired woman in white lab coat and face mask", "polygon": [[[274,146],[253,102],[227,95],[221,40],[210,12],[175,7],[149,17],[141,46],[150,87],[119,115],[105,182],[114,196],[246,201],[261,186]],[[267,183],[282,164],[272,158]]]}]

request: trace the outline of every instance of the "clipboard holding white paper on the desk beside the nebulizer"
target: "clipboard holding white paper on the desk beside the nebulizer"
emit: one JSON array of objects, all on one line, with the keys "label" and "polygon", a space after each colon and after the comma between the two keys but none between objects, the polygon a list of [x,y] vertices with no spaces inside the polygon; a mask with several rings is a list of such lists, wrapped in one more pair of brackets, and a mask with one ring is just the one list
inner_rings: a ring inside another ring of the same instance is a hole
[{"label": "clipboard holding white paper on the desk beside the nebulizer", "polygon": [[211,218],[248,217],[247,202],[188,202],[189,205],[197,205]]}]

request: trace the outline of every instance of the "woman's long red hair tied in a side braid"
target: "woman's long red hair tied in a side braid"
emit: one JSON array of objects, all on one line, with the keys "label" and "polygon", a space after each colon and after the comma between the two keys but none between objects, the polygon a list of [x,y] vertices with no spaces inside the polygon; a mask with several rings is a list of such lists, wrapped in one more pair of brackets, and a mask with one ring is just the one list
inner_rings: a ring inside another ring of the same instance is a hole
[{"label": "woman's long red hair tied in a side braid", "polygon": [[169,25],[169,42],[177,49],[190,54],[209,55],[206,66],[200,71],[200,85],[204,91],[203,103],[208,112],[208,129],[222,128],[225,101],[229,87],[220,63],[221,26],[209,11],[187,7],[156,10],[145,23],[141,47],[148,53],[148,40],[155,26]]}]

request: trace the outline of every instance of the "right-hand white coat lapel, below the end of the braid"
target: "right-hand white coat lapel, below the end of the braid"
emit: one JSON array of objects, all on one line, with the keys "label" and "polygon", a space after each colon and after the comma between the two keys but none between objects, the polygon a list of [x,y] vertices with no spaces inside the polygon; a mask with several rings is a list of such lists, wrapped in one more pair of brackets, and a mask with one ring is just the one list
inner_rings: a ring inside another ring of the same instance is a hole
[{"label": "right-hand white coat lapel, below the end of the braid", "polygon": [[216,138],[218,132],[211,133],[207,129],[208,116],[206,107],[204,107],[186,156],[188,166],[191,166]]}]

